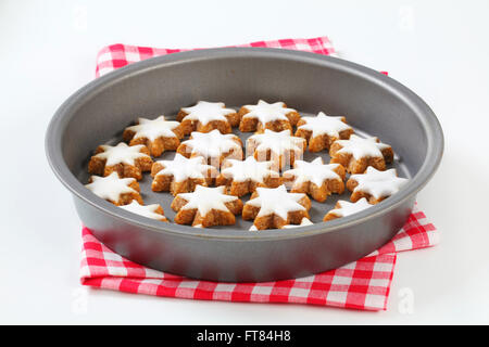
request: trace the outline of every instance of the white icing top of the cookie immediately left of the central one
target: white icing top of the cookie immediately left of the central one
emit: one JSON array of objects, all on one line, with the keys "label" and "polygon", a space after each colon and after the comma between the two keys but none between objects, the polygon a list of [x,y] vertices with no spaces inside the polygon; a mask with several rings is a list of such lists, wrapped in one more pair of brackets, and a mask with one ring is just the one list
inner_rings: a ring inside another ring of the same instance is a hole
[{"label": "white icing top of the cookie immediately left of the central one", "polygon": [[206,178],[206,171],[215,169],[213,166],[208,165],[205,159],[201,156],[193,158],[186,158],[181,154],[175,154],[173,160],[159,160],[164,168],[158,171],[156,176],[172,175],[176,182],[183,182],[187,179]]}]

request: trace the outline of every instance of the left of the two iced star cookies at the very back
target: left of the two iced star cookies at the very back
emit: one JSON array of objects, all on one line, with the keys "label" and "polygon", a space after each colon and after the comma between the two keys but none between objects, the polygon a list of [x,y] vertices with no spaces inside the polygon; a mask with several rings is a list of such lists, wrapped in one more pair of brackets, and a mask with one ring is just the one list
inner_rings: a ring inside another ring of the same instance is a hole
[{"label": "left of the two iced star cookies at the very back", "polygon": [[239,124],[239,115],[233,108],[226,108],[223,102],[199,101],[195,106],[183,107],[177,115],[184,133],[192,131],[209,132],[217,129],[222,133],[231,132]]}]

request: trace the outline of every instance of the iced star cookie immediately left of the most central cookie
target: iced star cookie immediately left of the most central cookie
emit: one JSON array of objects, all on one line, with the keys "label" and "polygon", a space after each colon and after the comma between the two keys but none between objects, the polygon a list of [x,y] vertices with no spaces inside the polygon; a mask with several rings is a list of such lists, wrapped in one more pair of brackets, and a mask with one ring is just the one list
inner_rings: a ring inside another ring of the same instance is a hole
[{"label": "iced star cookie immediately left of the most central cookie", "polygon": [[173,160],[159,160],[151,168],[153,192],[178,193],[193,192],[198,184],[211,185],[217,176],[217,169],[208,165],[201,156],[186,158],[177,153]]}]

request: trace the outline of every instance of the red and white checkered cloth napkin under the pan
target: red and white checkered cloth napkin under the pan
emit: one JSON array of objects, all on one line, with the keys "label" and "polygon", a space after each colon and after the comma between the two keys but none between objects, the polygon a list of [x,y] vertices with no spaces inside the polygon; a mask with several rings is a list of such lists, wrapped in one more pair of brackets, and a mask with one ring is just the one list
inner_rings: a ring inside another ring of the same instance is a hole
[{"label": "red and white checkered cloth napkin under the pan", "polygon": [[[243,46],[296,49],[326,55],[335,52],[326,37]],[[179,51],[113,44],[100,52],[97,76],[133,62]],[[83,241],[82,283],[93,287],[190,299],[312,304],[383,310],[387,306],[396,253],[434,246],[439,242],[439,233],[415,206],[401,231],[367,257],[305,278],[261,283],[198,281],[148,269],[112,252],[86,228],[83,229]]]}]

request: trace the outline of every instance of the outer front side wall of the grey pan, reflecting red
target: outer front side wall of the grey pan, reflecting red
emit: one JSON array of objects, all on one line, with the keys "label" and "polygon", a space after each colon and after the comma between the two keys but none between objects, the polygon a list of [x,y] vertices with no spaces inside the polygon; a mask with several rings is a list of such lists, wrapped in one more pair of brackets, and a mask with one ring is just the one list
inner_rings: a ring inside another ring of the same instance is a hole
[{"label": "outer front side wall of the grey pan, reflecting red", "polygon": [[75,197],[83,223],[117,254],[168,273],[223,282],[285,280],[336,269],[392,239],[413,204],[414,197],[367,222],[334,232],[276,240],[217,240],[147,230]]}]

